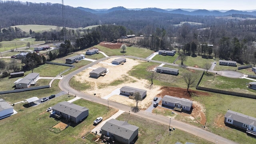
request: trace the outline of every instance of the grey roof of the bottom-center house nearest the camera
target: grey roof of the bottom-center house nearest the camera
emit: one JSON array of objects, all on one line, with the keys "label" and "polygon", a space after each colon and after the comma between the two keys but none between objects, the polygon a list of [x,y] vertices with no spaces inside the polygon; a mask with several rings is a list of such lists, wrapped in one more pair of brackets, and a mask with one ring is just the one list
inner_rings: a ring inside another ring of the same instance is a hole
[{"label": "grey roof of the bottom-center house nearest the camera", "polygon": [[125,139],[130,139],[132,134],[138,130],[138,126],[128,124],[125,121],[115,119],[108,120],[102,127],[102,130],[115,134]]}]

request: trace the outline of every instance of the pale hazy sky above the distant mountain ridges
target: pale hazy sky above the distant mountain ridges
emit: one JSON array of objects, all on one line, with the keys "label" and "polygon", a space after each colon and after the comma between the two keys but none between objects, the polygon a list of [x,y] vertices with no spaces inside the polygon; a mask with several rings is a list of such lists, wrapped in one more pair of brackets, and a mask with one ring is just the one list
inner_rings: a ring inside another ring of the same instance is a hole
[{"label": "pale hazy sky above the distant mountain ridges", "polygon": [[[18,0],[15,0],[18,1]],[[36,3],[62,3],[62,0],[19,0]],[[255,0],[64,0],[65,5],[91,9],[125,8],[191,8],[206,10],[256,10]]]}]

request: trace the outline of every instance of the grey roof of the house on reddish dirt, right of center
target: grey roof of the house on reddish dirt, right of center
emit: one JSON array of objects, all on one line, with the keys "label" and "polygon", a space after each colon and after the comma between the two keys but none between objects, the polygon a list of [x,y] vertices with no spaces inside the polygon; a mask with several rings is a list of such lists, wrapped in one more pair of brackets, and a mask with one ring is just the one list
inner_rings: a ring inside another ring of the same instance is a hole
[{"label": "grey roof of the house on reddish dirt, right of center", "polygon": [[192,104],[193,104],[193,101],[191,101],[191,100],[187,100],[185,98],[177,98],[177,97],[168,96],[168,95],[165,95],[162,98],[162,101],[171,102],[174,104],[180,104],[182,106],[192,106]]}]

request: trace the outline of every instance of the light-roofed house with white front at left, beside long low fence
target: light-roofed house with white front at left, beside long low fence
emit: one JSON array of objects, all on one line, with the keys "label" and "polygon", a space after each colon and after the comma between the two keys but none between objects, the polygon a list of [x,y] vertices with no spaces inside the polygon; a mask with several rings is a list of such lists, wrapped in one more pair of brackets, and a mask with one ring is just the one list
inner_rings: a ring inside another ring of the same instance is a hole
[{"label": "light-roofed house with white front at left, beside long low fence", "polygon": [[39,78],[38,73],[30,73],[26,75],[24,78],[20,78],[16,80],[14,83],[16,88],[28,88],[31,84],[36,84],[36,81]]}]

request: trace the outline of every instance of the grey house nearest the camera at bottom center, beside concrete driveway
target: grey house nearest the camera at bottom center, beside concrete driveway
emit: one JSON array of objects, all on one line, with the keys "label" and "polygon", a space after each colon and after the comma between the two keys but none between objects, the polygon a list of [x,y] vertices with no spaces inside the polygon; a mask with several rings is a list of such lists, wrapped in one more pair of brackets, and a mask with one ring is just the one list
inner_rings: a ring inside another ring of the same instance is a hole
[{"label": "grey house nearest the camera at bottom center, beside concrete driveway", "polygon": [[133,126],[125,121],[115,119],[108,120],[102,127],[101,133],[104,139],[117,141],[123,144],[131,144],[138,138],[138,126]]}]

